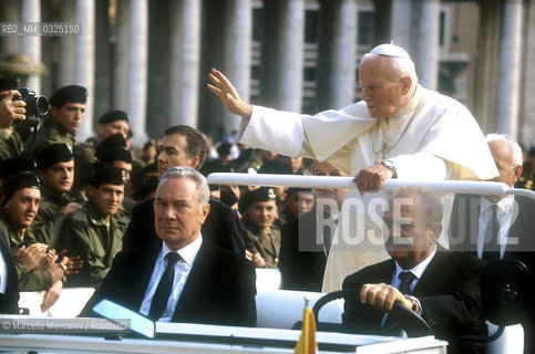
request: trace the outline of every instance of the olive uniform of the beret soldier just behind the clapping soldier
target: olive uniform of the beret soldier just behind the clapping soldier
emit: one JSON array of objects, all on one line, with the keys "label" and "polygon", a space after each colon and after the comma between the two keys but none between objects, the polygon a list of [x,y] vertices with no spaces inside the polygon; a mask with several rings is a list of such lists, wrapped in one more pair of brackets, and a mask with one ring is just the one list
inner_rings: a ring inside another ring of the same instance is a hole
[{"label": "olive uniform of the beret soldier just behind the clapping soldier", "polygon": [[70,202],[82,206],[86,200],[88,198],[79,190],[59,194],[42,187],[39,212],[31,226],[38,241],[55,248],[61,233],[61,227],[68,217],[60,210]]}]

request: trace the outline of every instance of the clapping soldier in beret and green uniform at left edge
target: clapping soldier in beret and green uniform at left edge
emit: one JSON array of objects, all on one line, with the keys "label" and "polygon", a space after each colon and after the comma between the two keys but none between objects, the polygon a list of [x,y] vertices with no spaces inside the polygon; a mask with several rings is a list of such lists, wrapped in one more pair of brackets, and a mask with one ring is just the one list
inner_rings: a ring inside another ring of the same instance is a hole
[{"label": "clapping soldier in beret and green uniform at left edge", "polygon": [[58,254],[44,243],[38,243],[30,226],[35,218],[41,199],[39,178],[23,171],[8,179],[0,210],[0,228],[16,260],[20,291],[45,290],[41,310],[49,309],[63,289],[63,275],[69,259],[58,261]]}]

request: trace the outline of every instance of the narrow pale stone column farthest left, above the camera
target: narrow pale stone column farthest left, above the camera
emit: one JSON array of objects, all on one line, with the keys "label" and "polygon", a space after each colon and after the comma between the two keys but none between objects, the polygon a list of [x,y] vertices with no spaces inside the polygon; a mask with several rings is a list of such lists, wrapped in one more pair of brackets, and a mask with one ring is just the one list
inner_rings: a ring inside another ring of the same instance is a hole
[{"label": "narrow pale stone column farthest left, above the camera", "polygon": [[[23,0],[22,1],[22,22],[40,22],[41,21],[41,1]],[[22,35],[20,51],[23,55],[30,58],[30,62],[41,62],[41,37]],[[27,86],[41,93],[41,80],[39,75],[28,77]]]}]

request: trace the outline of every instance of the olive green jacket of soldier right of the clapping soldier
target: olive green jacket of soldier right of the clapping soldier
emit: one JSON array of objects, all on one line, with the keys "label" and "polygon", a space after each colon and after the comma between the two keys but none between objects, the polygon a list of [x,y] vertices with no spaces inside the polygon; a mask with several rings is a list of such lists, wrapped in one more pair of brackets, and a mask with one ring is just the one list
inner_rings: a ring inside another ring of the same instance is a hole
[{"label": "olive green jacket of soldier right of the clapping soldier", "polygon": [[69,277],[66,285],[99,288],[122,249],[126,227],[127,220],[116,215],[105,225],[91,200],[69,216],[63,222],[60,243],[69,254],[82,258],[83,268],[79,274]]}]

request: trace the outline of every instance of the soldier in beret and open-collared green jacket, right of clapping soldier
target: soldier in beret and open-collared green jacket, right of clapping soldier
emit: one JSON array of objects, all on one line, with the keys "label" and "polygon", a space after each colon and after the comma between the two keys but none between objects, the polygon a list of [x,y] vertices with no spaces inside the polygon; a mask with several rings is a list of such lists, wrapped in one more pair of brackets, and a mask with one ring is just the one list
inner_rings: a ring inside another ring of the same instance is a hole
[{"label": "soldier in beret and open-collared green jacket, right of clapping soldier", "polygon": [[124,197],[125,174],[116,167],[96,170],[88,186],[88,202],[63,222],[60,244],[80,254],[84,267],[69,287],[99,288],[123,246],[127,220],[117,215]]}]

